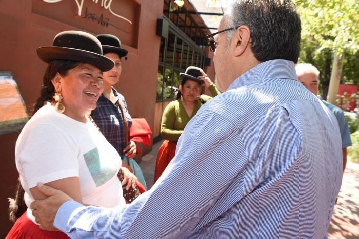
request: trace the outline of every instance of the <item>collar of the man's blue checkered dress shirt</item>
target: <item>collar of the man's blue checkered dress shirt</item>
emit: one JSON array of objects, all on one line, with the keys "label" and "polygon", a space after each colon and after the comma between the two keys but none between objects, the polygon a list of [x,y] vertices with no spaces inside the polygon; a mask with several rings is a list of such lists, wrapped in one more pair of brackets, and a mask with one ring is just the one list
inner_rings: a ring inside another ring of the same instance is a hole
[{"label": "collar of the man's blue checkered dress shirt", "polygon": [[227,91],[239,88],[246,84],[269,78],[285,78],[298,80],[295,72],[295,64],[289,60],[268,60],[235,79]]}]

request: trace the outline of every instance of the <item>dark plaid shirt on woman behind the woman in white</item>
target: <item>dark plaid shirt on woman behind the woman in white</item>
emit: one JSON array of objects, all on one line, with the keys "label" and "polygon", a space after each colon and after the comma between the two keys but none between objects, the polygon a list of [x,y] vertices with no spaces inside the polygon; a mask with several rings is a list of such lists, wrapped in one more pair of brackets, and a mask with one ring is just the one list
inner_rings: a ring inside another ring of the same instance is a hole
[{"label": "dark plaid shirt on woman behind the woman in white", "polygon": [[125,97],[119,94],[113,87],[116,101],[112,103],[103,94],[98,98],[97,107],[92,111],[91,117],[104,134],[105,138],[118,151],[118,154],[124,156],[123,150],[125,144],[125,126],[124,118],[118,105],[118,100],[122,100],[124,113],[127,118],[128,128],[132,125],[132,118],[127,110]]}]

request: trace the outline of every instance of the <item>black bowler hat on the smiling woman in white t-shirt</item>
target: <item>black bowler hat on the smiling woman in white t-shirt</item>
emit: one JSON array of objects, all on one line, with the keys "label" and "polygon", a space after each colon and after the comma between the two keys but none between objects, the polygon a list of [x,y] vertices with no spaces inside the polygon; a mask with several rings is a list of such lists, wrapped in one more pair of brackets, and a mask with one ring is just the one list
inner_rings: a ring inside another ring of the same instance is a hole
[{"label": "black bowler hat on the smiling woman in white t-shirt", "polygon": [[109,71],[114,66],[112,60],[102,55],[101,43],[87,32],[60,32],[55,36],[52,46],[39,47],[36,52],[46,63],[52,60],[73,60],[91,64],[101,71]]}]

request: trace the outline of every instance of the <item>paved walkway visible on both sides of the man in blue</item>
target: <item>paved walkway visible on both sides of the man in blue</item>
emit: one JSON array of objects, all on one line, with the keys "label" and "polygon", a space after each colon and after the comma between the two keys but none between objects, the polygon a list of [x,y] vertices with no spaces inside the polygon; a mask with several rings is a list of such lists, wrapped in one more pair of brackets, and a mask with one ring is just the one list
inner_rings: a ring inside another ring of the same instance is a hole
[{"label": "paved walkway visible on both sides of the man in blue", "polygon": [[[151,153],[142,157],[141,168],[147,188],[153,185],[154,167],[161,143],[162,141],[154,144]],[[359,238],[359,164],[350,161],[347,163],[328,236],[330,239]]]}]

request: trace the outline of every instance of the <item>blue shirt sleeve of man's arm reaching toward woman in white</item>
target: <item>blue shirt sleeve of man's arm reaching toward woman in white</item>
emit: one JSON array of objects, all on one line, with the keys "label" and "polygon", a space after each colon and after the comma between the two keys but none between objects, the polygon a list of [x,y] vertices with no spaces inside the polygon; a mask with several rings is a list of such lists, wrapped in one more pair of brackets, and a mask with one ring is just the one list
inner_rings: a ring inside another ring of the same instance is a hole
[{"label": "blue shirt sleeve of man's arm reaching toward woman in white", "polygon": [[68,222],[66,230],[59,229],[70,237],[184,236],[242,172],[245,161],[235,127],[222,116],[203,111],[187,125],[176,156],[151,190],[125,208],[75,207],[61,218],[58,215],[67,210],[65,204],[55,226]]}]

